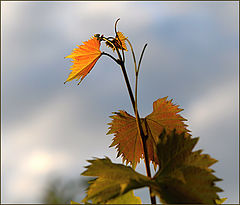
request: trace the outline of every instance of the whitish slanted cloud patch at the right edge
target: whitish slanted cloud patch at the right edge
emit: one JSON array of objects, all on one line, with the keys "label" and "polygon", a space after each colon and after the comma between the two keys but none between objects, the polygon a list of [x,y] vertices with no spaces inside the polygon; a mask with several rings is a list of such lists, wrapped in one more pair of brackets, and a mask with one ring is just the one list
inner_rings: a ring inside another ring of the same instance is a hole
[{"label": "whitish slanted cloud patch at the right edge", "polygon": [[194,132],[232,116],[238,110],[238,80],[215,85],[195,99],[187,113]]}]

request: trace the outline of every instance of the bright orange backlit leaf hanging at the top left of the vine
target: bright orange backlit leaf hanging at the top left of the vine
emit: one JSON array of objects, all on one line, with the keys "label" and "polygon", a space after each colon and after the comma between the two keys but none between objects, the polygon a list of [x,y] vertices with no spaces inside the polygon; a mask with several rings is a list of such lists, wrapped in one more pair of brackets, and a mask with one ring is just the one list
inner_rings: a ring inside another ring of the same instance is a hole
[{"label": "bright orange backlit leaf hanging at the top left of the vine", "polygon": [[96,37],[83,42],[83,45],[78,46],[78,48],[74,48],[73,52],[65,57],[73,59],[73,65],[70,69],[72,72],[69,74],[65,83],[73,79],[80,79],[81,82],[92,70],[100,56],[100,41]]}]

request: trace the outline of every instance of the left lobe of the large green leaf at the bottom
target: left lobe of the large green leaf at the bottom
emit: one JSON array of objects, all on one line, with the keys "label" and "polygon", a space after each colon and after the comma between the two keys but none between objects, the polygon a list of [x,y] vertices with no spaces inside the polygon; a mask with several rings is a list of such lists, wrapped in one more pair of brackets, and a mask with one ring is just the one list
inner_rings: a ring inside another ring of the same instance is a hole
[{"label": "left lobe of the large green leaf at the bottom", "polygon": [[86,166],[87,170],[82,175],[97,178],[89,182],[83,202],[92,200],[92,203],[106,203],[132,189],[151,184],[148,177],[135,172],[129,166],[114,164],[109,158],[96,158],[88,162],[91,164]]}]

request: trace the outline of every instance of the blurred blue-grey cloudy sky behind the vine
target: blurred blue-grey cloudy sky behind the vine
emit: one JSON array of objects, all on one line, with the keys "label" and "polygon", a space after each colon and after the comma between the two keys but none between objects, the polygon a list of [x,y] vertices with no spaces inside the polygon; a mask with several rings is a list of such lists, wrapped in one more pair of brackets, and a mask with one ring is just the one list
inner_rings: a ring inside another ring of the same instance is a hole
[{"label": "blurred blue-grey cloudy sky behind the vine", "polygon": [[[200,136],[197,148],[219,160],[212,168],[223,179],[220,196],[238,203],[238,2],[5,1],[1,15],[2,203],[42,202],[49,179],[79,178],[92,157],[121,162],[106,135],[111,112],[133,114],[118,66],[103,56],[80,86],[63,84],[71,66],[64,57],[96,33],[113,36],[119,17],[137,57],[148,43],[140,115],[161,97],[179,104]],[[143,165],[137,170],[145,174]],[[149,203],[145,191],[135,193]],[[75,200],[83,196],[81,190]]]}]

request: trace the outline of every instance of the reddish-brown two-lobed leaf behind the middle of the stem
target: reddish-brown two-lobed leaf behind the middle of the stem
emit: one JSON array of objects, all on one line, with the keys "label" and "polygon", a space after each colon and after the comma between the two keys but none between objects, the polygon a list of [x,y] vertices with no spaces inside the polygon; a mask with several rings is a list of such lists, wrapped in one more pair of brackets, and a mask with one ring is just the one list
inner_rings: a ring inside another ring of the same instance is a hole
[{"label": "reddish-brown two-lobed leaf behind the middle of the stem", "polygon": [[[182,109],[174,105],[172,100],[167,100],[167,97],[160,98],[153,103],[153,112],[145,118],[141,119],[144,134],[147,138],[147,150],[149,159],[155,164],[159,164],[157,153],[154,147],[159,135],[165,129],[167,133],[173,129],[177,133],[188,132],[186,121],[178,113]],[[125,111],[115,112],[111,116],[113,119],[109,123],[109,132],[107,134],[114,134],[113,142],[110,147],[116,146],[118,151],[117,157],[122,156],[123,161],[130,163],[133,167],[143,158],[143,146],[141,137],[138,134],[135,117],[131,116]]]}]

